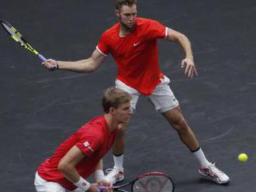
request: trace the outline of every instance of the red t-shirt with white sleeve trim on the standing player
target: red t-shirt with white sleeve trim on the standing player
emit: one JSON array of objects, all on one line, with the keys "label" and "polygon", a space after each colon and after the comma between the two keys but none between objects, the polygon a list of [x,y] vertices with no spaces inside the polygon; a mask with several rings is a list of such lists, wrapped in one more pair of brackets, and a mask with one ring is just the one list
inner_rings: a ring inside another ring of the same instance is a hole
[{"label": "red t-shirt with white sleeve trim on the standing player", "polygon": [[117,23],[102,34],[96,49],[104,56],[112,54],[119,81],[150,95],[164,77],[158,62],[157,39],[167,37],[167,29],[157,21],[137,18],[133,32],[120,37]]}]

